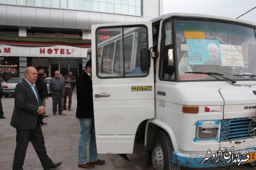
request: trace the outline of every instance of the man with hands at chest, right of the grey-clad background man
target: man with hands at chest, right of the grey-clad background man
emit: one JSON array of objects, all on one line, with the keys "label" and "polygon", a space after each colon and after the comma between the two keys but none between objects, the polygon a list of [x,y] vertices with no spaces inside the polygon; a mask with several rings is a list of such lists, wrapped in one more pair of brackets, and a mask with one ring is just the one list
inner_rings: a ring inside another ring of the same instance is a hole
[{"label": "man with hands at chest, right of the grey-clad background man", "polygon": [[[66,80],[76,80],[75,76],[72,76],[73,72],[71,70],[68,71],[68,75],[63,76],[64,79]],[[72,94],[73,94],[73,90],[76,87],[76,83],[66,83],[65,85],[65,94],[63,96],[63,110],[67,110],[67,97],[69,96],[69,105],[68,105],[68,109],[69,111],[71,111],[71,104],[72,104]]]}]

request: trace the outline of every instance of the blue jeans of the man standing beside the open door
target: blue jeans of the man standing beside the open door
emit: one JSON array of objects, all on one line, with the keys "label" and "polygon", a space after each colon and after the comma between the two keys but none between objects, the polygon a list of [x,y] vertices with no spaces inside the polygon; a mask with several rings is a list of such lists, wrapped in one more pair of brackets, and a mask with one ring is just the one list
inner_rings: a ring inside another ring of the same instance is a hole
[{"label": "blue jeans of the man standing beside the open door", "polygon": [[83,164],[87,163],[87,154],[86,146],[90,139],[89,144],[89,161],[97,161],[97,146],[96,146],[96,137],[95,137],[95,126],[93,118],[78,118],[80,123],[80,140],[78,146],[78,163]]}]

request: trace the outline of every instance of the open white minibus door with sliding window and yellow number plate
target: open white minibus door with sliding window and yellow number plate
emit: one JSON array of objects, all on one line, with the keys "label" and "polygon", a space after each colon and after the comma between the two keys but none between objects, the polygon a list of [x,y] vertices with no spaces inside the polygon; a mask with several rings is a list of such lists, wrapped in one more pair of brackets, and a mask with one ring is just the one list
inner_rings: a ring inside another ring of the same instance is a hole
[{"label": "open white minibus door with sliding window and yellow number plate", "polygon": [[92,26],[98,153],[133,153],[138,126],[155,117],[154,62],[144,56],[152,44],[152,22]]}]

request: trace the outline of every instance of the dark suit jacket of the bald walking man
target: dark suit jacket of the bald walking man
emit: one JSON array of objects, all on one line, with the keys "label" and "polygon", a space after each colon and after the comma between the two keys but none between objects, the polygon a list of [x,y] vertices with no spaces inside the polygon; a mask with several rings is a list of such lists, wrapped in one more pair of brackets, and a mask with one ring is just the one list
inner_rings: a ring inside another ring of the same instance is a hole
[{"label": "dark suit jacket of the bald walking man", "polygon": [[[35,86],[37,96],[39,96]],[[42,106],[42,101],[38,97],[39,104],[36,96],[24,79],[15,87],[14,93],[14,109],[11,118],[11,126],[16,129],[34,129],[38,121],[37,110]]]}]

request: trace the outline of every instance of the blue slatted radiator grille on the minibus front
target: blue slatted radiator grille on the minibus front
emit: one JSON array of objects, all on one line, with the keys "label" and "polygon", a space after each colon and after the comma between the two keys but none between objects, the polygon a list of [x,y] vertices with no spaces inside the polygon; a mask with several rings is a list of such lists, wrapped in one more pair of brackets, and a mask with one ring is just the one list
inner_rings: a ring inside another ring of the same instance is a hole
[{"label": "blue slatted radiator grille on the minibus front", "polygon": [[[251,138],[251,136],[248,134],[250,122],[251,119],[248,117],[222,120],[220,141],[222,142]],[[255,123],[251,124],[250,129],[253,127],[255,127]],[[256,132],[254,131],[251,134],[254,134],[255,136],[255,133]]]}]

